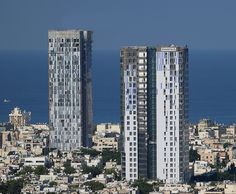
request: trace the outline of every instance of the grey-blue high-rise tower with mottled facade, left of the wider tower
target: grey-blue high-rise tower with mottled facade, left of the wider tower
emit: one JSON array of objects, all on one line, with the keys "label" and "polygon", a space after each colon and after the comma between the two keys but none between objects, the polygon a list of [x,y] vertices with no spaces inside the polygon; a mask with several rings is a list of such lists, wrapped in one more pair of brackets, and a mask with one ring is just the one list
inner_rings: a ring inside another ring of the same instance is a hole
[{"label": "grey-blue high-rise tower with mottled facade, left of the wider tower", "polygon": [[48,33],[50,146],[72,150],[91,145],[92,32]]}]

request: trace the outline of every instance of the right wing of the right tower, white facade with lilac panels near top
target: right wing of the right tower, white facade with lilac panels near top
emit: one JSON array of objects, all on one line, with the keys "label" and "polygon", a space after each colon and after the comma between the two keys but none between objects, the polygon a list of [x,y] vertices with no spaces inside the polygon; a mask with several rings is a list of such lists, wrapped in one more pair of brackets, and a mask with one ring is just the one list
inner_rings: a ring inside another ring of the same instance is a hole
[{"label": "right wing of the right tower, white facade with lilac panels near top", "polygon": [[188,179],[188,49],[157,48],[157,178],[169,183]]}]

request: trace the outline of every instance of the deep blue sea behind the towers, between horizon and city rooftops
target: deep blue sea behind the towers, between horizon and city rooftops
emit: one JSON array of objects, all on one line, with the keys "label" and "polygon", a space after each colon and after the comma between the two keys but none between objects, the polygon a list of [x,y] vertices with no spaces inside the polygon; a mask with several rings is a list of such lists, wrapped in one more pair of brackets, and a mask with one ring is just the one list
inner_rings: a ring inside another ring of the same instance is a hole
[{"label": "deep blue sea behind the towers, between horizon and city rooftops", "polygon": [[[189,53],[189,120],[236,123],[236,51]],[[48,122],[47,51],[0,52],[0,122],[15,107]],[[119,51],[93,52],[94,122],[119,122]],[[4,103],[9,99],[9,103]]]}]

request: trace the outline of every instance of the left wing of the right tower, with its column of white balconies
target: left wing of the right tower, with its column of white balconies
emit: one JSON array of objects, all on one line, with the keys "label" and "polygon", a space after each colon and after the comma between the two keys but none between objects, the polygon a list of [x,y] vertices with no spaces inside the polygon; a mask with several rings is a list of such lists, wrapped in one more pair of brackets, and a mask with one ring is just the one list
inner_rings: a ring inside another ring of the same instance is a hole
[{"label": "left wing of the right tower, with its column of white balconies", "polygon": [[127,47],[121,56],[122,174],[147,177],[147,47]]}]

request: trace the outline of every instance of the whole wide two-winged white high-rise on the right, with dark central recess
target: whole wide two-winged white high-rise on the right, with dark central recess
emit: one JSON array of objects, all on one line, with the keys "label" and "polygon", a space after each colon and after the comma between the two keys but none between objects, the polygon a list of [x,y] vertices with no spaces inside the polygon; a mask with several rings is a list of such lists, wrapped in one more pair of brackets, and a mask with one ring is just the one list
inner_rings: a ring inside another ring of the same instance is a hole
[{"label": "whole wide two-winged white high-rise on the right, with dark central recess", "polygon": [[188,180],[188,49],[121,49],[122,175]]}]

